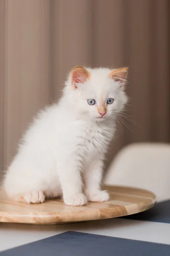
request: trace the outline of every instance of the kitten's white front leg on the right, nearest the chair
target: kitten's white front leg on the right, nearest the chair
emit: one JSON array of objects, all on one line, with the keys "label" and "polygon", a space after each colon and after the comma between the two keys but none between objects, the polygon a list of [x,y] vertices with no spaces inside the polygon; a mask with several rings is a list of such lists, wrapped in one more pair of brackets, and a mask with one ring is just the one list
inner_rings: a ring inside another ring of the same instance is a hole
[{"label": "kitten's white front leg on the right, nearest the chair", "polygon": [[103,160],[102,158],[93,161],[88,170],[85,171],[85,194],[88,201],[103,202],[108,201],[109,194],[106,190],[101,190],[101,180],[103,173]]}]

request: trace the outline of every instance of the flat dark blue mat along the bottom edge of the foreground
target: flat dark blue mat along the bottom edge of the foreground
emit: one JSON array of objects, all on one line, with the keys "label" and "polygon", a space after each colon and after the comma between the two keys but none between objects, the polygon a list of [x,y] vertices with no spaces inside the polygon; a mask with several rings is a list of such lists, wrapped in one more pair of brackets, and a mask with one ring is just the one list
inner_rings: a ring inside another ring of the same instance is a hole
[{"label": "flat dark blue mat along the bottom edge of the foreground", "polygon": [[[159,232],[159,230],[158,230]],[[66,232],[0,253],[0,256],[169,256],[170,245]]]}]

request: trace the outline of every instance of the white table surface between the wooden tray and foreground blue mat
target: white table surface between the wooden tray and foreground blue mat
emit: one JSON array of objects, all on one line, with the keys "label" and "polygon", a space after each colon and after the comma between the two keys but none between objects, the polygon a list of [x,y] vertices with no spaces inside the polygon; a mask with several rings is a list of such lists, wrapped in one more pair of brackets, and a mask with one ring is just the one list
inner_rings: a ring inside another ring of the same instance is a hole
[{"label": "white table surface between the wooden tray and foreground blue mat", "polygon": [[170,224],[114,218],[62,225],[0,223],[0,251],[66,231],[170,244]]}]

